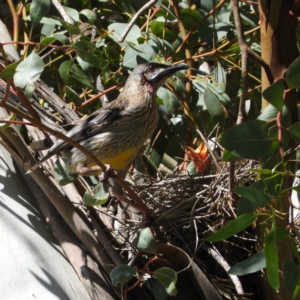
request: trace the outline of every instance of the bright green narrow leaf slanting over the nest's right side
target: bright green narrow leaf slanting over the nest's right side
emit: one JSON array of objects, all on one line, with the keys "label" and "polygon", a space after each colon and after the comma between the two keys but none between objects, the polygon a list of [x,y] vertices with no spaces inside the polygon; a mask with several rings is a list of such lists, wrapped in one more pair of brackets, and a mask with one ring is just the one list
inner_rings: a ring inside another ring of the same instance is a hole
[{"label": "bright green narrow leaf slanting over the nest's right side", "polygon": [[219,242],[225,240],[236,233],[246,229],[250,226],[259,214],[243,214],[237,217],[236,219],[230,221],[226,224],[223,228],[218,230],[217,232],[213,233],[208,240],[210,242]]}]

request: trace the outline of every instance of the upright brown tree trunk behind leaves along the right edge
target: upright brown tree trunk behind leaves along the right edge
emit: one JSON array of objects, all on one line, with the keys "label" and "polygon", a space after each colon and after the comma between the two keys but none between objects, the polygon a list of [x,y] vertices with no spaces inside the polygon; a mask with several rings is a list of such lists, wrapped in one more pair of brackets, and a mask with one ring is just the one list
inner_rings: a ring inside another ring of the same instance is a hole
[{"label": "upright brown tree trunk behind leaves along the right edge", "polygon": [[[276,81],[277,78],[283,77],[288,66],[298,57],[296,26],[297,18],[293,17],[289,10],[292,8],[292,0],[260,0],[260,26],[261,26],[261,51],[262,58],[269,64],[271,73]],[[264,91],[270,82],[262,70],[262,91]],[[286,95],[285,104],[291,115],[292,123],[296,122],[297,116],[297,100],[296,92]],[[266,108],[268,102],[262,100],[262,109]],[[286,185],[291,182],[286,183]],[[281,211],[284,218],[277,218],[277,227],[286,228],[289,224],[289,201],[288,196],[281,199]],[[256,232],[258,235],[259,245],[263,245],[265,237],[270,231],[268,224],[257,223]],[[293,261],[294,257],[291,245],[287,239],[277,243],[278,262],[280,271],[280,289],[275,291],[268,283],[266,276],[263,276],[263,286],[266,299],[291,299],[291,295],[287,292],[282,276],[282,264],[284,261]]]}]

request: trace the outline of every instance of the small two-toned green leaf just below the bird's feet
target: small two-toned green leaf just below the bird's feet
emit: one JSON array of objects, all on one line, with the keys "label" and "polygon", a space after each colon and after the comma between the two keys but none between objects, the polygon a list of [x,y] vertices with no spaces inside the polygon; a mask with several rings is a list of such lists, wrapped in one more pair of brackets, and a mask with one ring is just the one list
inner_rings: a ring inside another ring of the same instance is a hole
[{"label": "small two-toned green leaf just below the bird's feet", "polygon": [[103,205],[110,197],[109,194],[109,182],[100,182],[97,184],[93,193],[86,191],[82,197],[82,201],[87,206]]}]

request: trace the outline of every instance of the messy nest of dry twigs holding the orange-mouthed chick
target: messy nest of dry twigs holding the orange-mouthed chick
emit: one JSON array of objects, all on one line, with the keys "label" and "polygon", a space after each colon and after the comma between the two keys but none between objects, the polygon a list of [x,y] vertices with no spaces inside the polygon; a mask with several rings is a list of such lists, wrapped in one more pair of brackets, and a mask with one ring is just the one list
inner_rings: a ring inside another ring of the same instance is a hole
[{"label": "messy nest of dry twigs holding the orange-mouthed chick", "polygon": [[[246,160],[236,163],[236,185],[250,185],[256,180],[256,175],[248,171],[253,168],[252,164]],[[207,242],[208,236],[236,218],[238,201],[229,191],[229,167],[223,162],[220,166],[222,171],[219,174],[174,176],[160,180],[144,177],[142,184],[132,188],[153,211],[155,224],[159,226],[165,241],[192,257],[221,295],[227,299],[251,299],[257,287],[247,282],[249,289],[239,296],[236,284],[227,274],[229,266],[255,253],[256,239],[251,229],[214,245]],[[115,205],[116,202],[110,203],[111,207],[115,208]],[[122,209],[123,217],[119,214],[117,218],[121,225],[112,231],[114,237],[119,238],[118,247],[129,262],[136,254],[133,237],[140,230],[139,216],[129,207]],[[247,276],[244,277],[247,280]],[[249,277],[256,285],[257,278],[253,280],[253,277],[257,276]]]}]

